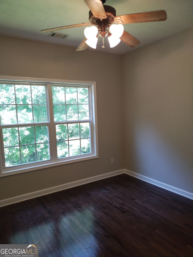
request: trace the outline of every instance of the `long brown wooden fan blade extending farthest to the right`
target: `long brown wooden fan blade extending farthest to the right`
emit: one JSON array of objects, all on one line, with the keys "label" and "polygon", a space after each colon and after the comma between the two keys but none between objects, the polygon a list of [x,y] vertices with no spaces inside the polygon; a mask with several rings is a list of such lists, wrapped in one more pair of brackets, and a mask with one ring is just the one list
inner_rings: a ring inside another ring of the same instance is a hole
[{"label": "long brown wooden fan blade extending farthest to the right", "polygon": [[163,21],[167,19],[166,11],[150,11],[135,14],[126,14],[115,17],[115,22],[118,24],[150,22],[150,21]]}]

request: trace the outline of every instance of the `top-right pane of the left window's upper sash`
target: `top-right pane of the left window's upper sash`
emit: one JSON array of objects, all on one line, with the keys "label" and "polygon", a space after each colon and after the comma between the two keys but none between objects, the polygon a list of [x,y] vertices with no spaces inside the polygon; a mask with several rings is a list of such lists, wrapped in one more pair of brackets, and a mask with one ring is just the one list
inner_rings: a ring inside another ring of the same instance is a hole
[{"label": "top-right pane of the left window's upper sash", "polygon": [[45,86],[31,86],[33,104],[46,104]]}]

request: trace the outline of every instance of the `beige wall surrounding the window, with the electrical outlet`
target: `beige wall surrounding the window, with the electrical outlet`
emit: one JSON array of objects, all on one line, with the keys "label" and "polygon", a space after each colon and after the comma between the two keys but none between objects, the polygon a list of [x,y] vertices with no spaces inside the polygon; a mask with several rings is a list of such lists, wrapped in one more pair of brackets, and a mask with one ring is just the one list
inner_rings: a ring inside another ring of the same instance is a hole
[{"label": "beige wall surrounding the window, with the electrical outlet", "polygon": [[0,199],[124,168],[120,56],[8,37],[0,56],[0,75],[96,81],[99,139],[98,159],[0,178]]}]

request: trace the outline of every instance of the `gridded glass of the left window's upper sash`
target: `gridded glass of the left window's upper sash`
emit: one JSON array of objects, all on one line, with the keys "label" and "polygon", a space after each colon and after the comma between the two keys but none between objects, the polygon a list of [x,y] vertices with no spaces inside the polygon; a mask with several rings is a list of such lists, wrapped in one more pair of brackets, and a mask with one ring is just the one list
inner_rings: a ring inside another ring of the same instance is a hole
[{"label": "gridded glass of the left window's upper sash", "polygon": [[1,125],[47,122],[46,87],[0,84]]}]

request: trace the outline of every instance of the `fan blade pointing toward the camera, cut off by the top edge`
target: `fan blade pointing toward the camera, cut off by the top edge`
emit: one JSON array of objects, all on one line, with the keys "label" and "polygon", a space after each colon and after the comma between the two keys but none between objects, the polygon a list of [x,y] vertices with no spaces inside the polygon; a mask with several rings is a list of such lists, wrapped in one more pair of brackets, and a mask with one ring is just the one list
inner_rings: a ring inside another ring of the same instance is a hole
[{"label": "fan blade pointing toward the camera, cut off by the top edge", "polygon": [[106,19],[106,12],[101,0],[84,0],[84,2],[88,5],[94,17]]}]

